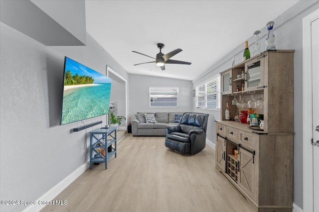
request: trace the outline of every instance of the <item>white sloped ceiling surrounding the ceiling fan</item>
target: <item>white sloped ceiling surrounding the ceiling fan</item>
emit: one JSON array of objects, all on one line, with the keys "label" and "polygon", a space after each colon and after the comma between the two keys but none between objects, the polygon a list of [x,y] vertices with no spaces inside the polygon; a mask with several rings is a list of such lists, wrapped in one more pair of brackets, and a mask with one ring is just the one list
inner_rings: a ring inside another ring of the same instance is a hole
[{"label": "white sloped ceiling surrounding the ceiling fan", "polygon": [[[193,80],[297,2],[86,0],[86,30],[129,73]],[[133,66],[155,61],[132,51],[156,58],[157,43],[163,54],[182,49],[171,59],[192,64]]]}]

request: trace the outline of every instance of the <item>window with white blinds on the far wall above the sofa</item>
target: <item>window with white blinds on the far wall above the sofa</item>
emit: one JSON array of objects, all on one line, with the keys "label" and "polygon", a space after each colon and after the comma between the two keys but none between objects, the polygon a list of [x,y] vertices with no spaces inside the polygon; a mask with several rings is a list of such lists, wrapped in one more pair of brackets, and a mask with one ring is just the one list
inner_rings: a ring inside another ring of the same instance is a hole
[{"label": "window with white blinds on the far wall above the sofa", "polygon": [[178,87],[150,87],[150,107],[177,107]]}]

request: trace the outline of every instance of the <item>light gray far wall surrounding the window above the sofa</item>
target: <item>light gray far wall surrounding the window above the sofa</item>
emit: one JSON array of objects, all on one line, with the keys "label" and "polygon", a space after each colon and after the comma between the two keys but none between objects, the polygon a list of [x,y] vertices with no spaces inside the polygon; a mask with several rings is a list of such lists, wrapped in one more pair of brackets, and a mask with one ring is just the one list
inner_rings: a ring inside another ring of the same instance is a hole
[{"label": "light gray far wall surrounding the window above the sofa", "polygon": [[[130,74],[129,117],[137,112],[189,112],[192,110],[192,85],[189,80]],[[177,108],[150,108],[150,87],[178,87]]]}]

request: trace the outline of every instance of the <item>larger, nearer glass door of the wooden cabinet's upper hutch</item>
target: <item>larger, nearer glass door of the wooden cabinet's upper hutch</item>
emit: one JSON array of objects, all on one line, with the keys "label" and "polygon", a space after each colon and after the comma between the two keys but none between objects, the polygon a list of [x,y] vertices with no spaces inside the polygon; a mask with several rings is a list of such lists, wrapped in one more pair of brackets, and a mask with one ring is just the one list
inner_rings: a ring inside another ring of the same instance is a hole
[{"label": "larger, nearer glass door of the wooden cabinet's upper hutch", "polygon": [[263,89],[264,58],[257,58],[245,64],[245,91]]}]

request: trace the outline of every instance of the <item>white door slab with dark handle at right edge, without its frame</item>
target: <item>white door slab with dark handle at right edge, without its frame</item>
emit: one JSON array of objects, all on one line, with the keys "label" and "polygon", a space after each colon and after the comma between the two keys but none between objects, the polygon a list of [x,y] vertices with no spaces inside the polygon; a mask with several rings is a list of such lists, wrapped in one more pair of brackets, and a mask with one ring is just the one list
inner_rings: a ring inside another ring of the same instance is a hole
[{"label": "white door slab with dark handle at right edge, without its frame", "polygon": [[319,212],[319,19],[312,22],[314,212]]}]

